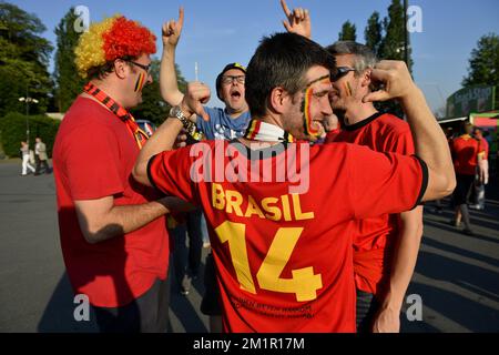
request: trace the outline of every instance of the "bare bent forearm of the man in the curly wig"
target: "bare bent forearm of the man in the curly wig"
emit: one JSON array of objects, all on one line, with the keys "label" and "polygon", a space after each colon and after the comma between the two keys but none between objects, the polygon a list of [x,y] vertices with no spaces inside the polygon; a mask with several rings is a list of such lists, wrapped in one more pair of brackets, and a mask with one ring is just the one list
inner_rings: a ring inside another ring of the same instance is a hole
[{"label": "bare bent forearm of the man in the curly wig", "polygon": [[90,244],[134,232],[172,210],[192,210],[191,204],[177,197],[116,206],[113,196],[105,196],[99,200],[75,201],[74,205],[80,229]]}]

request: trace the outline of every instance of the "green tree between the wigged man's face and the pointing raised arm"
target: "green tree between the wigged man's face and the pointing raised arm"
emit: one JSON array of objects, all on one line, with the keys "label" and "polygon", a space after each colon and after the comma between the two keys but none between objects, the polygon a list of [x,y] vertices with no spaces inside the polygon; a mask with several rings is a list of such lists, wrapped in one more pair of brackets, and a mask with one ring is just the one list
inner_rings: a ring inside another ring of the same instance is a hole
[{"label": "green tree between the wigged man's face and the pointing raised arm", "polygon": [[[133,116],[138,120],[149,120],[156,125],[163,123],[170,112],[171,106],[163,100],[160,93],[160,60],[153,59],[151,75],[153,82],[142,90],[142,103],[131,110]],[[185,92],[187,82],[182,77],[179,67],[175,64],[179,89]]]}]

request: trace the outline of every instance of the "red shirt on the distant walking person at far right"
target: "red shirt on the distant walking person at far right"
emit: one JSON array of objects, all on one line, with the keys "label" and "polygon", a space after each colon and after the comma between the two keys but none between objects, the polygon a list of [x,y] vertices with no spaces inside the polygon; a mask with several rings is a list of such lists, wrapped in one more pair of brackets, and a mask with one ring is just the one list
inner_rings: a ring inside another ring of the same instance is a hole
[{"label": "red shirt on the distant walking person at far right", "polygon": [[457,174],[475,175],[478,165],[478,154],[483,153],[483,149],[476,139],[469,134],[452,140],[450,145],[454,160],[454,169]]}]

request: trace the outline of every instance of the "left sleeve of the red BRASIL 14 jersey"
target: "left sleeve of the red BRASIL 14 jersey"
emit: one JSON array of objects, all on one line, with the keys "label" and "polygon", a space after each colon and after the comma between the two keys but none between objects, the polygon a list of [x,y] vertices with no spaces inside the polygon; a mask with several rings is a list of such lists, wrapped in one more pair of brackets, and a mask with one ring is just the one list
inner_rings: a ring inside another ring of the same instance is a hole
[{"label": "left sleeve of the red BRASIL 14 jersey", "polygon": [[151,158],[147,176],[151,184],[167,195],[197,203],[196,183],[191,179],[191,146],[167,151]]}]

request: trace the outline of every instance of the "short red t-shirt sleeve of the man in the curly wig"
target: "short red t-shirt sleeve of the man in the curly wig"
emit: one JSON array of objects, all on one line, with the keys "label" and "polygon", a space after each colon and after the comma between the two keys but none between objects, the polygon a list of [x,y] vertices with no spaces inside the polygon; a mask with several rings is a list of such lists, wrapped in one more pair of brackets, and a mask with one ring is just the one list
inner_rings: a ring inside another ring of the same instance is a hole
[{"label": "short red t-shirt sleeve of the man in the curly wig", "polygon": [[74,200],[96,200],[124,191],[119,144],[110,129],[85,124],[67,142],[65,166]]}]

